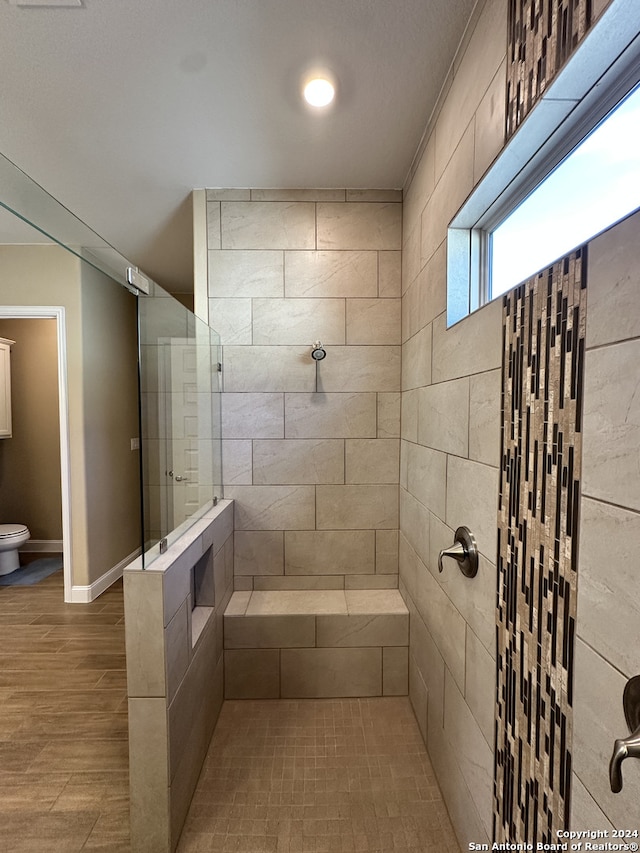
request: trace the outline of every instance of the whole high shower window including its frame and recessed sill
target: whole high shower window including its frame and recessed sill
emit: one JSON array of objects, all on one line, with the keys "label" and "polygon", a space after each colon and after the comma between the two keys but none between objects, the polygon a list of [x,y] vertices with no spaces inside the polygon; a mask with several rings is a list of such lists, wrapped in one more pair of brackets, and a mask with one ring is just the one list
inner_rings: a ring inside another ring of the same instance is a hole
[{"label": "whole high shower window including its frame and recessed sill", "polygon": [[640,5],[616,0],[451,221],[447,326],[640,207],[639,138]]}]

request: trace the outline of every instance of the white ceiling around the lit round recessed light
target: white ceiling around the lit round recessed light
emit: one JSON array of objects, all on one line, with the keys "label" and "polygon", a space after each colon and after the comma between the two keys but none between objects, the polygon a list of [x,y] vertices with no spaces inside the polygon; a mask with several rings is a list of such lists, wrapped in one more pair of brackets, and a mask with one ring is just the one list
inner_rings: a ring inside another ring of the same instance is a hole
[{"label": "white ceiling around the lit round recessed light", "polygon": [[474,2],[0,0],[0,152],[189,290],[194,187],[403,185]]}]

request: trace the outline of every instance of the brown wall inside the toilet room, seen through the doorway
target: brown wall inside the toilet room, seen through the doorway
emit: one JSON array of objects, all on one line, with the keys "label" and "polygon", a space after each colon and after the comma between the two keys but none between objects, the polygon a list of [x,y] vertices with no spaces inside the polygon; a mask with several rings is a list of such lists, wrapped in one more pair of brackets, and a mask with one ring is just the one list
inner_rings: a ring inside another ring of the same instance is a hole
[{"label": "brown wall inside the toilet room, seen through the doorway", "polygon": [[0,441],[0,519],[32,539],[62,540],[55,320],[2,320],[11,348],[13,436]]}]

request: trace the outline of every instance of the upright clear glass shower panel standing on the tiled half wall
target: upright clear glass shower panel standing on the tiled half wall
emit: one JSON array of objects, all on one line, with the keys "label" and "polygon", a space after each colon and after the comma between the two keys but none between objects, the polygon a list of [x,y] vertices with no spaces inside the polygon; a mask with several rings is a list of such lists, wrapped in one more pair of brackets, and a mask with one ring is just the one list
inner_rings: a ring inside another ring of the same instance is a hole
[{"label": "upright clear glass shower panel standing on the tiled half wall", "polygon": [[138,322],[146,568],[222,495],[220,341],[155,284]]}]

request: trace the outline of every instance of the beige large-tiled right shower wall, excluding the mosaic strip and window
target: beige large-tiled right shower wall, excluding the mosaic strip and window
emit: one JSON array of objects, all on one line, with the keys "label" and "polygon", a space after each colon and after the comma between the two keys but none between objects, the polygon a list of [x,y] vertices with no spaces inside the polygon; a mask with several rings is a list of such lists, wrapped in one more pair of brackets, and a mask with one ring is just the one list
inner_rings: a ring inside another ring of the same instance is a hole
[{"label": "beige large-tiled right shower wall, excluding the mosaic strip and window", "polygon": [[[498,300],[447,330],[446,230],[503,146],[506,15],[504,0],[476,10],[404,202],[400,588],[411,612],[410,695],[463,846],[491,840],[502,328]],[[628,575],[640,509],[639,353],[628,340],[639,328],[637,218],[615,231],[594,241],[589,265],[575,828],[607,828],[605,814],[617,826],[638,821],[638,768],[625,766],[631,781],[616,796],[607,767],[613,738],[627,733],[626,676],[640,672]],[[599,340],[596,289],[607,330]],[[481,552],[473,581],[450,561],[437,569],[462,524]]]}]

